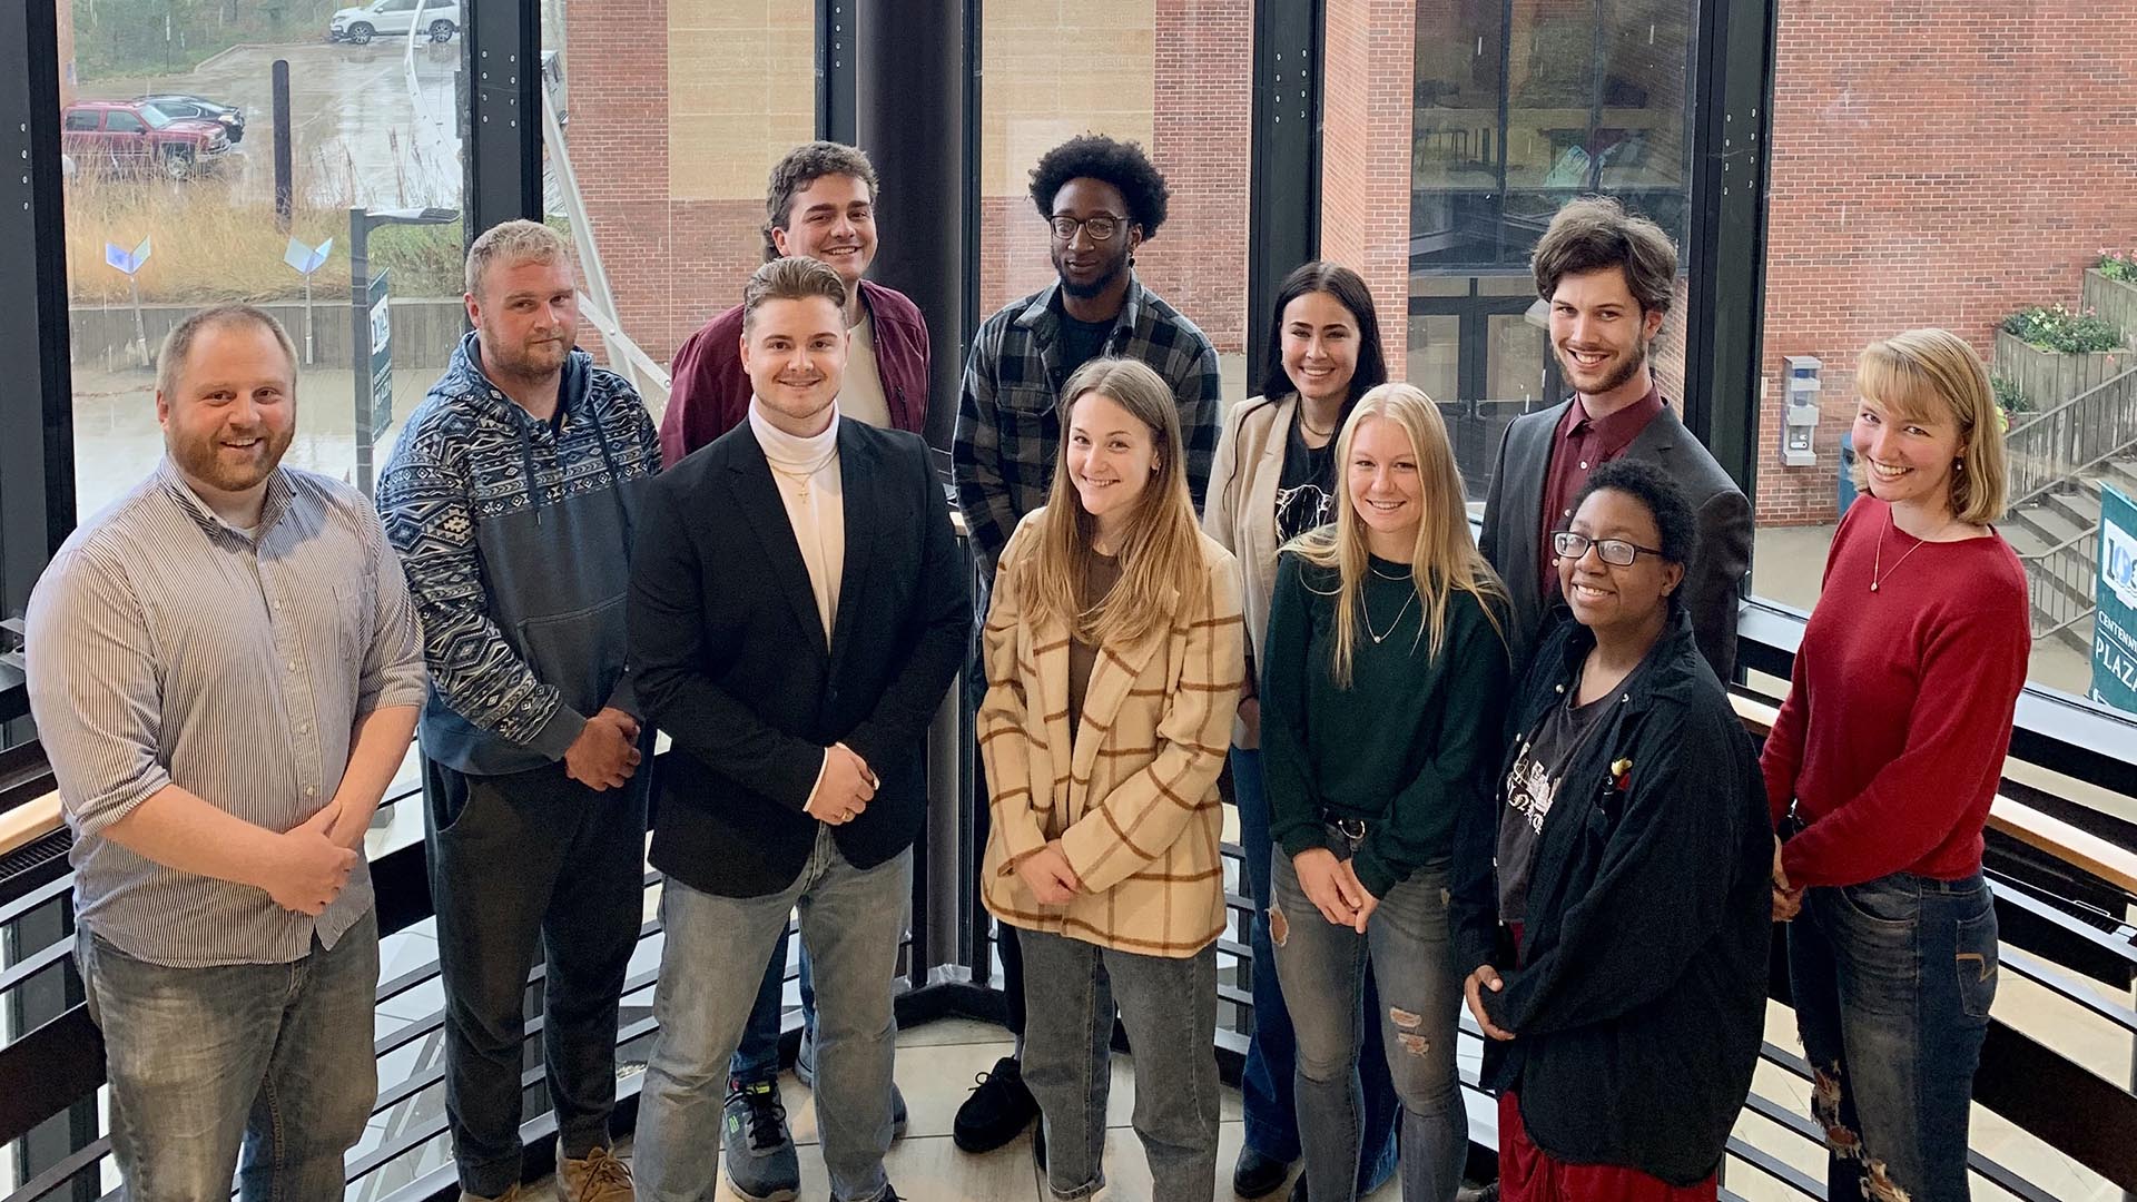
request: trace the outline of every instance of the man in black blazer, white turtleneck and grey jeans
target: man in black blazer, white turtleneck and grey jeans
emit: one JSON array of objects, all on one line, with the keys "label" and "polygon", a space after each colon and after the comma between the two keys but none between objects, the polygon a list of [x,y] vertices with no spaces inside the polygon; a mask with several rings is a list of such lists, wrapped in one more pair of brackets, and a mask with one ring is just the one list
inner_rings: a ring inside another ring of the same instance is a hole
[{"label": "man in black blazer, white turtleneck and grey jeans", "polygon": [[895,1200],[891,980],[927,806],[925,731],[970,597],[915,434],[838,417],[846,284],[778,259],[744,289],[744,426],[648,490],[630,569],[639,702],[669,731],[650,860],[667,873],[660,1035],[639,1196],[709,1198],[729,1054],[789,911],[816,982],[831,1196]]}]

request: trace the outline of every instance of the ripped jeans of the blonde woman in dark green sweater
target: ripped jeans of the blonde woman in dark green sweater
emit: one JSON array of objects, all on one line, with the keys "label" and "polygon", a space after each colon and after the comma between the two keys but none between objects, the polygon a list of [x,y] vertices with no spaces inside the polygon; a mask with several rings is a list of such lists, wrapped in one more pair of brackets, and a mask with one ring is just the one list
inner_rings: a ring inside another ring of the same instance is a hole
[{"label": "ripped jeans of the blonde woman in dark green sweater", "polygon": [[1402,1200],[1453,1202],[1468,1159],[1468,1112],[1455,1076],[1462,973],[1447,924],[1447,864],[1428,864],[1391,888],[1359,935],[1321,918],[1289,856],[1272,860],[1276,971],[1299,1039],[1293,1089],[1306,1191],[1314,1202],[1357,1198],[1366,1108],[1357,1065],[1363,1029],[1374,1024],[1359,1022],[1359,999],[1370,969],[1385,1003],[1376,1024],[1387,1072],[1402,1099]]}]

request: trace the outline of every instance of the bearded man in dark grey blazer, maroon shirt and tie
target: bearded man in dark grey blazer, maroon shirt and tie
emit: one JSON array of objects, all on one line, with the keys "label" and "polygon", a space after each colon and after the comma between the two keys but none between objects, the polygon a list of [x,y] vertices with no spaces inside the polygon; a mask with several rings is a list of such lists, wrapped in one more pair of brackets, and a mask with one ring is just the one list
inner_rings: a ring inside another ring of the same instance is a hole
[{"label": "bearded man in dark grey blazer, maroon shirt and tie", "polygon": [[1648,349],[1669,312],[1678,248],[1618,201],[1558,210],[1530,259],[1551,306],[1551,351],[1573,398],[1515,417],[1485,494],[1481,550],[1513,599],[1519,661],[1564,607],[1549,533],[1566,528],[1588,473],[1620,456],[1667,471],[1699,515],[1684,603],[1699,654],[1735,669],[1737,582],[1750,567],[1750,503],[1663,402]]}]

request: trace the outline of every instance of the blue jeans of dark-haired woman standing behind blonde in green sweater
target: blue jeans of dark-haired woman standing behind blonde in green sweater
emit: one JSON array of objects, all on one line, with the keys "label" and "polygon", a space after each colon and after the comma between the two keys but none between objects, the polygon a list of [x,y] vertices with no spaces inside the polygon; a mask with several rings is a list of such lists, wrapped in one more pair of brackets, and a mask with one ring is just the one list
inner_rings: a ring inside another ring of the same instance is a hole
[{"label": "blue jeans of dark-haired woman standing behind blonde in green sweater", "polygon": [[[1246,1116],[1246,1146],[1280,1159],[1299,1159],[1299,1112],[1291,1095],[1291,1074],[1299,1044],[1284,1010],[1284,990],[1276,980],[1276,947],[1269,943],[1269,798],[1261,787],[1261,751],[1231,749],[1231,783],[1239,800],[1239,853],[1246,866],[1246,890],[1254,898],[1248,941],[1254,950],[1254,1035],[1246,1044],[1246,1067],[1239,1069],[1239,1108]],[[1381,988],[1366,973],[1361,1014],[1381,1012]],[[1359,1054],[1359,1084],[1366,1091],[1366,1119],[1357,1191],[1372,1193],[1395,1172],[1395,1119],[1402,1101],[1387,1076],[1387,1052],[1381,1024],[1366,1024],[1366,1048]]]}]

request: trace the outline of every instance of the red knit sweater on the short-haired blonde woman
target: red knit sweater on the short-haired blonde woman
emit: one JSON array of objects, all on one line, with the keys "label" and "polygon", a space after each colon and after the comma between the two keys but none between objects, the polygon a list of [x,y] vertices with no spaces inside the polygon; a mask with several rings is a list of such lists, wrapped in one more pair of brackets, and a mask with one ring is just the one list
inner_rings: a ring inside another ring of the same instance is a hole
[{"label": "red knit sweater on the short-haired blonde woman", "polygon": [[[1859,498],[1825,558],[1825,590],[1765,740],[1774,821],[1797,800],[1793,885],[1981,868],[1981,828],[2011,751],[2032,631],[2026,569],[2002,535],[1921,543]],[[1870,592],[1878,530],[1878,590]],[[1904,563],[1902,563],[1904,556]]]}]

